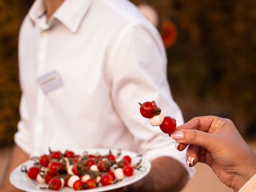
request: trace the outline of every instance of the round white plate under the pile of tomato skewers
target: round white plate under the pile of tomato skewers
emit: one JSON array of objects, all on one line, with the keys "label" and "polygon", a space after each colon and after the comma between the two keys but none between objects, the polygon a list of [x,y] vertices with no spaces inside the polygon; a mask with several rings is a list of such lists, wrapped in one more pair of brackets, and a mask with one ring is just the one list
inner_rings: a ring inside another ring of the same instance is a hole
[{"label": "round white plate under the pile of tomato skewers", "polygon": [[[82,153],[84,151],[88,151],[89,154],[95,154],[96,152],[100,153],[101,155],[106,155],[108,154],[109,149],[104,149],[104,148],[94,148],[94,149],[85,149],[85,150],[73,150],[76,154],[80,154],[82,155]],[[116,155],[117,150],[116,149],[111,149],[112,153],[114,155]],[[139,171],[139,170],[134,170],[133,175],[130,177],[125,177],[124,180],[116,183],[116,184],[112,184],[112,185],[108,185],[108,186],[100,186],[98,188],[94,188],[94,189],[86,189],[86,190],[81,190],[84,192],[100,192],[100,191],[108,191],[108,190],[113,190],[113,189],[117,189],[117,188],[121,188],[127,185],[130,185],[140,179],[142,179],[144,176],[146,176],[146,174],[148,174],[148,172],[150,171],[151,168],[151,164],[148,160],[143,159],[143,157],[136,157],[138,154],[134,153],[134,152],[130,152],[130,151],[126,151],[126,150],[122,150],[122,154],[120,156],[120,158],[122,158],[122,156],[125,155],[129,155],[132,158],[132,164],[137,163],[140,159],[142,159],[141,162],[141,166],[143,166],[145,169],[143,171]],[[119,159],[119,158],[118,158]],[[10,182],[13,186],[15,186],[16,188],[19,188],[21,190],[24,191],[29,191],[29,192],[49,192],[52,190],[43,190],[40,189],[40,187],[46,187],[46,184],[39,184],[36,180],[32,180],[30,178],[28,178],[28,176],[26,176],[26,174],[24,172],[21,172],[21,166],[25,165],[27,166],[27,168],[33,166],[34,161],[29,160],[23,164],[21,164],[20,166],[18,166],[17,168],[15,168],[11,175],[10,175]],[[72,188],[69,187],[64,187],[59,191],[66,191],[66,192],[71,192],[74,191]]]}]

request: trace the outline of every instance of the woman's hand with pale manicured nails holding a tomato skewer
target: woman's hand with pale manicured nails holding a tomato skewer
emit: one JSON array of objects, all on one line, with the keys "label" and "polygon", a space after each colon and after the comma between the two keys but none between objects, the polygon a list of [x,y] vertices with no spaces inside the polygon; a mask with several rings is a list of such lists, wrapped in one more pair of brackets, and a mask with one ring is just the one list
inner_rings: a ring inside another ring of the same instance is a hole
[{"label": "woman's hand with pale manicured nails holding a tomato skewer", "polygon": [[178,126],[170,136],[178,142],[176,148],[180,151],[189,145],[186,153],[188,166],[206,163],[234,191],[256,173],[256,155],[229,119],[196,117]]}]

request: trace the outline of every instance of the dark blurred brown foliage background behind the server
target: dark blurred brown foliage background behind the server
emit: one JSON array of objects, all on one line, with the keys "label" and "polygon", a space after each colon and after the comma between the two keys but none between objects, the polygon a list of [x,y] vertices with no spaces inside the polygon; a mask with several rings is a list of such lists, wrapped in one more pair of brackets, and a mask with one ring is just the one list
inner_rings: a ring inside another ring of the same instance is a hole
[{"label": "dark blurred brown foliage background behind the server", "polygon": [[[148,3],[178,38],[168,48],[168,80],[185,120],[230,118],[244,136],[256,127],[256,1],[132,0]],[[33,0],[0,1],[0,146],[13,144],[19,120],[17,43]],[[161,30],[159,28],[159,30]]]}]

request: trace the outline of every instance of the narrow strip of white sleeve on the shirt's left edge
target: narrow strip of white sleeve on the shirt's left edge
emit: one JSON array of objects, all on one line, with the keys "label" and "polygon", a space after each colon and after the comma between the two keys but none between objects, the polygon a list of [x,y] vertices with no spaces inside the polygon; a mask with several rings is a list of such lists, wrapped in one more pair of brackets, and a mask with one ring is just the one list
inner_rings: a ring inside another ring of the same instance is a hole
[{"label": "narrow strip of white sleeve on the shirt's left edge", "polygon": [[18,131],[14,134],[14,142],[26,153],[30,154],[30,131],[28,128],[28,110],[24,95],[20,100],[20,121]]}]

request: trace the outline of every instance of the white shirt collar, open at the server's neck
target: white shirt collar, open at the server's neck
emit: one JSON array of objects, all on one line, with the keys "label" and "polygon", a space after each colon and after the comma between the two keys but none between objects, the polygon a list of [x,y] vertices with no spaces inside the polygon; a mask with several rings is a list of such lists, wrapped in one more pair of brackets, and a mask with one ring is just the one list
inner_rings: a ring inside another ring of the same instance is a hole
[{"label": "white shirt collar, open at the server's neck", "polygon": [[[65,0],[52,18],[58,19],[70,31],[76,32],[92,2],[93,0]],[[44,0],[36,0],[28,12],[28,17],[35,23],[44,13]]]}]

